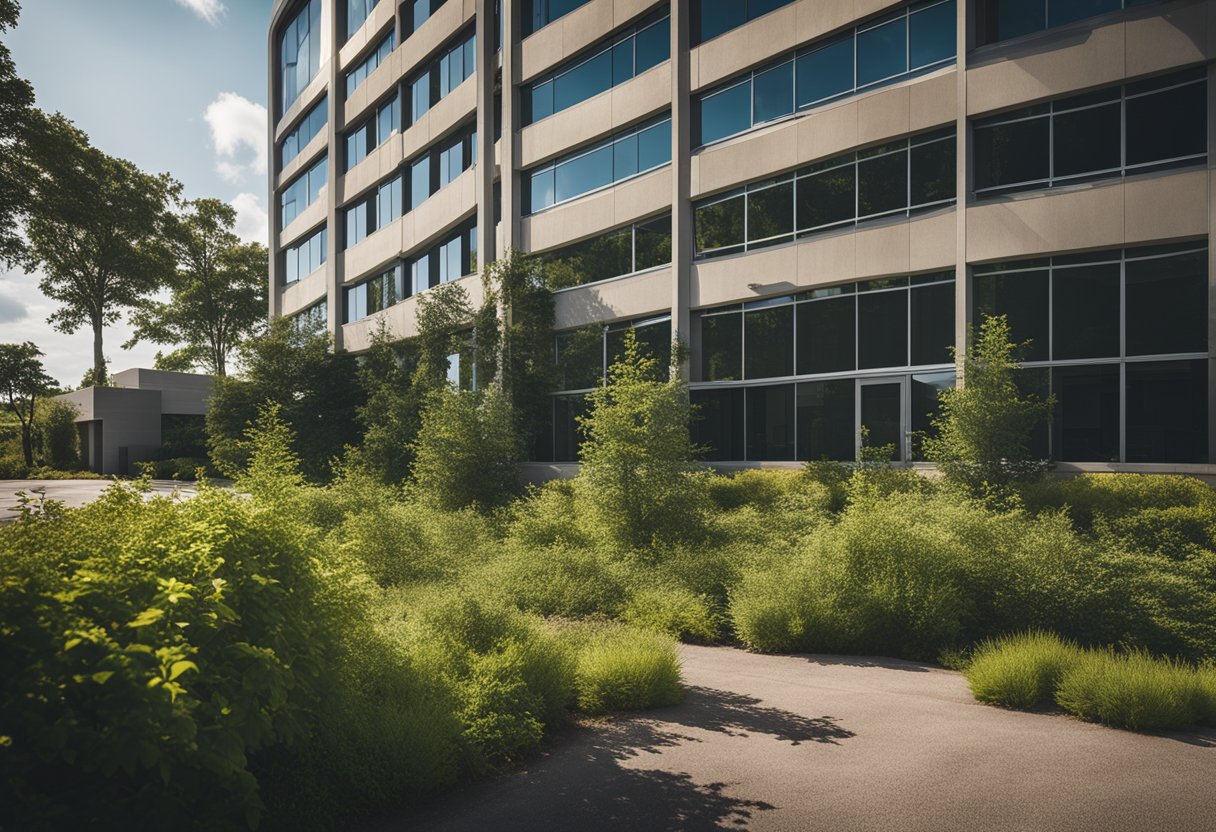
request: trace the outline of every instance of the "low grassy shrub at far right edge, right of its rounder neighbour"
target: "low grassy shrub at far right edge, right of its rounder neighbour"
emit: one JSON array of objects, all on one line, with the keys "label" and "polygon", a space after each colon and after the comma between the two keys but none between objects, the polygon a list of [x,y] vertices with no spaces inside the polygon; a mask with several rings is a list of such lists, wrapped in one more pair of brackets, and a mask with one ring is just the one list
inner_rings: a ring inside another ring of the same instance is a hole
[{"label": "low grassy shrub at far right edge, right of its rounder neighbour", "polygon": [[1189,665],[1141,651],[1093,651],[1060,679],[1055,702],[1081,719],[1153,731],[1194,725],[1199,696],[1199,675]]}]

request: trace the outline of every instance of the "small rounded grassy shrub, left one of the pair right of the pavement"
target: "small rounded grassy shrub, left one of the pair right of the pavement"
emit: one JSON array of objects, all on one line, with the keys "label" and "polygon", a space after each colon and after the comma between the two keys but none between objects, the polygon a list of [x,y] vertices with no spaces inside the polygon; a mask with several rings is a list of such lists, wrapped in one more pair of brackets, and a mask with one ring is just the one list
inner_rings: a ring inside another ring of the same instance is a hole
[{"label": "small rounded grassy shrub, left one of the pair right of the pavement", "polygon": [[985,641],[963,671],[980,702],[1037,708],[1052,702],[1060,678],[1081,658],[1080,648],[1051,633]]}]

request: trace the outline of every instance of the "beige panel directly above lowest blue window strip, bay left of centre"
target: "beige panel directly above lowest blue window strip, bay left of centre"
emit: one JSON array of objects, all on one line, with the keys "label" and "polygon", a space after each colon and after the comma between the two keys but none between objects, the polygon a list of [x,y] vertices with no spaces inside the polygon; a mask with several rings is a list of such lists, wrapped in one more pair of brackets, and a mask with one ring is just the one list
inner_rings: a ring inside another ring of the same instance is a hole
[{"label": "beige panel directly above lowest blue window strip, bay left of centre", "polygon": [[519,167],[530,168],[597,137],[608,136],[671,106],[671,63],[550,116],[519,131]]}]

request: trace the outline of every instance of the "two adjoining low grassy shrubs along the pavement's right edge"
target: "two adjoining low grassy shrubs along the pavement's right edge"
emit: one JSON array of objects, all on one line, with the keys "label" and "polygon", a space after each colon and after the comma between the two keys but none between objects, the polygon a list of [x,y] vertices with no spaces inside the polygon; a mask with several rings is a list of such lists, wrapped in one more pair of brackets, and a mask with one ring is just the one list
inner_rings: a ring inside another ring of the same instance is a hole
[{"label": "two adjoining low grassy shrubs along the pavement's right edge", "polygon": [[1216,726],[1216,667],[1195,667],[1143,651],[1083,650],[1030,633],[987,642],[967,668],[981,702],[1064,710],[1132,730]]}]

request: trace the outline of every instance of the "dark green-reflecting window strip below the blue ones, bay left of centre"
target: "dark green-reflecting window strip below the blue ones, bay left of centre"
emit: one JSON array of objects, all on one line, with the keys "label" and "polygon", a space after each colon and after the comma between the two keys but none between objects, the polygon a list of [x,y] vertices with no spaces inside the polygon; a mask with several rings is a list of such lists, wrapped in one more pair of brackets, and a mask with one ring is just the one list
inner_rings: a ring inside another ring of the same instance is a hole
[{"label": "dark green-reflecting window strip below the blue ones, bay left of centre", "polygon": [[671,215],[536,254],[551,289],[593,283],[671,263]]}]

